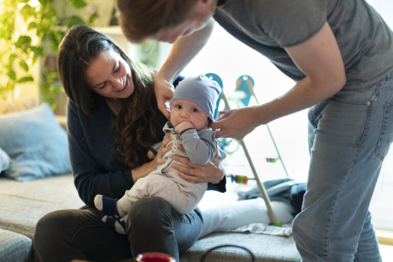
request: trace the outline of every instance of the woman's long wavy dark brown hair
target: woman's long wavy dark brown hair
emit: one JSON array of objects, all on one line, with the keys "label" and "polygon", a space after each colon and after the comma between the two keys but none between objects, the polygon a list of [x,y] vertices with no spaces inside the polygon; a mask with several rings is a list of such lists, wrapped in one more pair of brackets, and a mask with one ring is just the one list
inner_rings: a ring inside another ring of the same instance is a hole
[{"label": "woman's long wavy dark brown hair", "polygon": [[87,26],[74,26],[65,34],[57,53],[57,70],[65,93],[86,115],[95,114],[102,99],[84,80],[86,69],[106,50],[113,49],[129,64],[134,92],[119,99],[121,110],[112,122],[114,152],[130,168],[148,161],[146,148],[158,142],[154,77],[134,63],[108,36]]}]

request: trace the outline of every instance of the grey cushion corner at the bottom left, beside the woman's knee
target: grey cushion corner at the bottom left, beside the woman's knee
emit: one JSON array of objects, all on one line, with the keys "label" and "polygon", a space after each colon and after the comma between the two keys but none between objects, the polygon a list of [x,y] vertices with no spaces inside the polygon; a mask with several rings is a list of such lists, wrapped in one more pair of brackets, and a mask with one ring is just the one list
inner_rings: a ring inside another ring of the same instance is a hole
[{"label": "grey cushion corner at the bottom left, beside the woman's knee", "polygon": [[31,253],[31,239],[8,230],[0,229],[0,261],[28,261]]}]

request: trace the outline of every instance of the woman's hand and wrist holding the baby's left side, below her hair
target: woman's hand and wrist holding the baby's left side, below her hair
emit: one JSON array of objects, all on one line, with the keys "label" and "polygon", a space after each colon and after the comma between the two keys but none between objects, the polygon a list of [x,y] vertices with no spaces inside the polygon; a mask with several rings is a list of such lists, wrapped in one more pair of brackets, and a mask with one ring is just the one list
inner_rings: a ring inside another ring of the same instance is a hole
[{"label": "woman's hand and wrist holding the baby's left side, below her hair", "polygon": [[166,147],[166,145],[171,140],[172,140],[172,138],[170,137],[170,133],[167,133],[164,136],[164,139],[162,140],[162,144],[157,151],[156,157],[152,161],[147,162],[147,163],[141,165],[140,167],[137,167],[132,170],[134,183],[137,182],[138,179],[146,177],[147,174],[150,173],[151,171],[156,170],[158,165],[165,163],[166,158],[163,158],[163,157],[170,149],[172,149],[172,147],[170,147],[170,146]]}]

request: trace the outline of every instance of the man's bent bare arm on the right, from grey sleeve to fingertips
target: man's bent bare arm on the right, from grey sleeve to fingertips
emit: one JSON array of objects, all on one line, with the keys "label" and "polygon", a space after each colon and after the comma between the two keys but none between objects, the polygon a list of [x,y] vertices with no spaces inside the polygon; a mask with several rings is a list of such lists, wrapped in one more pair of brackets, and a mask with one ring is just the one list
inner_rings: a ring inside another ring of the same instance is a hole
[{"label": "man's bent bare arm on the right, from grey sleeve to fingertips", "polygon": [[344,63],[328,23],[310,39],[285,50],[306,77],[266,104],[228,111],[210,124],[211,128],[220,129],[216,138],[244,138],[255,127],[315,105],[343,88]]}]

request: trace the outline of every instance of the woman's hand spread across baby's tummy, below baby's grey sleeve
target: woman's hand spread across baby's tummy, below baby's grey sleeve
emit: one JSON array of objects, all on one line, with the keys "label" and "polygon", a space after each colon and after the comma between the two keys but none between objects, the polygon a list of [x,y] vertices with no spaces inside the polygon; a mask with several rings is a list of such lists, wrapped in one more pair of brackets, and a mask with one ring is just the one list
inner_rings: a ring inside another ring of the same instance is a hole
[{"label": "woman's hand spread across baby's tummy, below baby's grey sleeve", "polygon": [[[179,145],[178,148],[184,151],[182,145]],[[215,149],[216,152],[213,159],[204,166],[192,163],[189,158],[175,155],[173,156],[174,160],[180,161],[181,163],[190,167],[173,164],[173,168],[179,170],[179,176],[185,180],[217,184],[223,179],[225,175],[225,169],[220,161],[217,141],[215,141]]]}]

